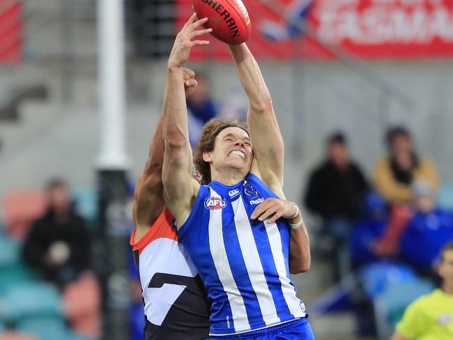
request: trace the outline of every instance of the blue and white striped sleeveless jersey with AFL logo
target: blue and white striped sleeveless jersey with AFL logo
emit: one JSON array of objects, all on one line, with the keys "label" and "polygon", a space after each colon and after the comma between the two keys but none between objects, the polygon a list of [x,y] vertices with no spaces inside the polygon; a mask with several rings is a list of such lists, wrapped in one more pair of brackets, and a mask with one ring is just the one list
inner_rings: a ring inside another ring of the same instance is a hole
[{"label": "blue and white striped sleeveless jersey with AFL logo", "polygon": [[252,173],[236,185],[202,185],[178,231],[212,302],[211,335],[305,317],[305,306],[289,279],[288,225],[282,219],[250,219],[269,197],[277,196]]}]

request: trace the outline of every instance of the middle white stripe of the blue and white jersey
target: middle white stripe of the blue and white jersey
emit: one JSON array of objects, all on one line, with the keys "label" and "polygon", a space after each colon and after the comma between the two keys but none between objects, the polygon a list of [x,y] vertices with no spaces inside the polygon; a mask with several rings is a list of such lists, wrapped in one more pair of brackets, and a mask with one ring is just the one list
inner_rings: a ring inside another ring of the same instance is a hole
[{"label": "middle white stripe of the blue and white jersey", "polygon": [[253,275],[253,280],[249,281],[251,281],[252,288],[256,293],[264,323],[266,323],[266,325],[279,323],[281,320],[277,315],[274,299],[268,289],[263,265],[261,265],[261,259],[252,232],[252,226],[250,226],[242,196],[239,196],[239,198],[236,199],[236,201],[233,201],[231,205],[233,206],[234,224],[236,225],[240,249],[243,253],[245,267],[247,268],[247,275],[249,275],[249,273],[252,273]]}]

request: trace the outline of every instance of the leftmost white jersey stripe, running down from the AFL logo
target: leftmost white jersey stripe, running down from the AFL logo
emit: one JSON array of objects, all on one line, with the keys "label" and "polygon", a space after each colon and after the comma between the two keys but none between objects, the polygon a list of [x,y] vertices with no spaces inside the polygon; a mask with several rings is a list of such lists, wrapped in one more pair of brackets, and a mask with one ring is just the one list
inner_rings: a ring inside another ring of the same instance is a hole
[{"label": "leftmost white jersey stripe, running down from the AFL logo", "polygon": [[[210,189],[210,196],[220,197],[213,189]],[[222,229],[222,209],[210,210],[208,224],[210,253],[213,257],[215,270],[217,270],[217,275],[219,275],[220,283],[224,287],[225,293],[227,293],[234,320],[234,329],[250,330],[243,297],[240,295],[236,281],[233,278],[233,273],[228,265]]]}]

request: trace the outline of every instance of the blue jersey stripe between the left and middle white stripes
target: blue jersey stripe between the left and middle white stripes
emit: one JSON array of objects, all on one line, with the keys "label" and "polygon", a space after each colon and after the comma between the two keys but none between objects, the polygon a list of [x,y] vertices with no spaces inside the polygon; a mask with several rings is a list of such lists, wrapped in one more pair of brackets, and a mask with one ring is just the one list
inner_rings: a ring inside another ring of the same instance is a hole
[{"label": "blue jersey stripe between the left and middle white stripes", "polygon": [[[249,272],[249,269],[252,268],[247,268],[245,262],[246,254],[243,252],[243,245],[240,242],[238,226],[236,226],[236,217],[236,210],[233,210],[231,202],[227,202],[227,206],[224,207],[222,212],[223,236],[228,245],[228,247],[225,245],[225,251],[228,256],[228,263],[226,263],[226,265],[230,266],[234,281],[236,281],[240,295],[243,297],[250,327],[253,329],[256,327],[265,327],[266,323],[261,314],[259,300],[254,291],[252,282],[250,281],[251,272]],[[239,226],[239,229],[243,228],[247,228],[247,226]],[[248,226],[248,229],[249,228],[250,226]],[[254,242],[253,235],[246,243],[248,244],[249,242]],[[266,283],[266,281],[264,281],[264,283]],[[240,330],[236,329],[236,331]]]}]

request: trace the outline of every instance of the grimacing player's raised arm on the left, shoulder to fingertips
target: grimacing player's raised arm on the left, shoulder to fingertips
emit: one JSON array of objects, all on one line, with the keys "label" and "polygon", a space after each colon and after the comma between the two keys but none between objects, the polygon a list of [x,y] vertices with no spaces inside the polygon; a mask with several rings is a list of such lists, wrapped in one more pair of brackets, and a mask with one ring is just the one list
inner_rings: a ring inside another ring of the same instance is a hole
[{"label": "grimacing player's raised arm on the left, shoulder to fingertips", "polygon": [[176,36],[169,56],[167,83],[164,92],[164,167],[162,182],[164,201],[181,226],[190,214],[199,183],[192,178],[188,167],[192,166],[192,150],[187,132],[187,107],[184,86],[179,82],[183,67],[190,56],[192,47],[208,44],[207,40],[192,40],[211,29],[199,29],[207,18],[197,20],[192,15]]}]

